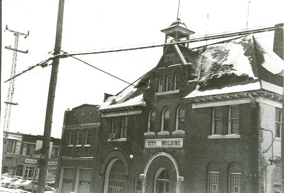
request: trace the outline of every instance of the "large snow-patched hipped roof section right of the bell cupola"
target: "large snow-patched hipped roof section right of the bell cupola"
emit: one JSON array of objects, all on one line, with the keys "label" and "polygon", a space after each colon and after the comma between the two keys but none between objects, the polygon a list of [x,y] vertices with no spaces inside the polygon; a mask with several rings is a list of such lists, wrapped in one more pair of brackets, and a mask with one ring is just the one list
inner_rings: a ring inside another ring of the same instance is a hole
[{"label": "large snow-patched hipped roof section right of the bell cupola", "polygon": [[[184,99],[251,90],[283,93],[283,60],[248,35],[192,49],[205,58],[198,68],[197,86]],[[189,54],[190,57],[190,54]],[[222,66],[229,71],[216,72]],[[270,86],[267,86],[270,85]],[[282,88],[282,92],[280,91]]]}]

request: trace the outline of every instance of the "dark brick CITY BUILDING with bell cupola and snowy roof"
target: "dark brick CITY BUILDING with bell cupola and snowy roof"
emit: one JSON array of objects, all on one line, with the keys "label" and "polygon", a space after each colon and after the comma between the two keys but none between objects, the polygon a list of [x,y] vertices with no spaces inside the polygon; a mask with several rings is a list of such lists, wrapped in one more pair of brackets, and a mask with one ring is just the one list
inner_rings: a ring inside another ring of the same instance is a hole
[{"label": "dark brick CITY BUILDING with bell cupola and snowy roof", "polygon": [[[161,31],[194,33],[180,20]],[[56,189],[277,192],[282,59],[253,35],[164,47],[135,86],[65,112]]]}]

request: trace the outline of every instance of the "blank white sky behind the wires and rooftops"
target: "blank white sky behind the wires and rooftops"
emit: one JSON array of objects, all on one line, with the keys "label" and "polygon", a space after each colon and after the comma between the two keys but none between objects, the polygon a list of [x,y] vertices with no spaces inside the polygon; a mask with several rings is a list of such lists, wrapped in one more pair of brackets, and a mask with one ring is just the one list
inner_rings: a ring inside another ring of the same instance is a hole
[{"label": "blank white sky behind the wires and rooftops", "polygon": [[[282,23],[283,0],[251,0],[248,28]],[[164,33],[176,20],[178,0],[156,1],[72,1],[65,0],[62,50],[67,52],[111,48],[164,41]],[[2,77],[1,77],[1,129],[10,76],[11,50],[14,36],[11,30],[27,33],[19,37],[17,72],[41,61],[54,48],[58,0],[3,0],[2,1]],[[207,14],[208,33],[245,29],[248,1],[186,1],[181,0],[179,18],[196,33],[204,35]],[[258,41],[272,49],[274,32],[256,34]],[[266,37],[263,37],[266,36]],[[211,42],[209,42],[211,43]],[[200,43],[192,43],[196,47]],[[134,81],[151,70],[162,55],[163,48],[92,54],[78,58],[114,74],[126,81]],[[51,66],[37,67],[15,81],[10,122],[11,132],[42,135],[47,103]],[[60,138],[64,111],[84,103],[101,104],[103,94],[116,94],[127,86],[73,58],[60,59],[51,136]]]}]

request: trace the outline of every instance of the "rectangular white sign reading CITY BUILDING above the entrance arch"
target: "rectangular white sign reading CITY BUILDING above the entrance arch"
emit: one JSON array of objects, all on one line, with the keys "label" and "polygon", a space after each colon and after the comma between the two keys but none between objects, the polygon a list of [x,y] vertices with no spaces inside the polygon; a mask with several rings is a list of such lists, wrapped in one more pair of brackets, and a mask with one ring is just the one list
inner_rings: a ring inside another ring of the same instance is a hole
[{"label": "rectangular white sign reading CITY BUILDING above the entrance arch", "polygon": [[183,139],[145,139],[145,148],[182,148]]}]

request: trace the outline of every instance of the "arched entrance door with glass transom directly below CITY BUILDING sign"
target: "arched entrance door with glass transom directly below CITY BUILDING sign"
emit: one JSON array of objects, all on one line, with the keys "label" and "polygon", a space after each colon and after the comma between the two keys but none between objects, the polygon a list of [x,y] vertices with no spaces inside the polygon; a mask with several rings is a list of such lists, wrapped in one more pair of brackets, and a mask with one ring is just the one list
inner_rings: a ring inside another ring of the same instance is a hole
[{"label": "arched entrance door with glass transom directly below CITY BUILDING sign", "polygon": [[169,174],[164,167],[161,167],[155,175],[155,193],[169,192]]}]

